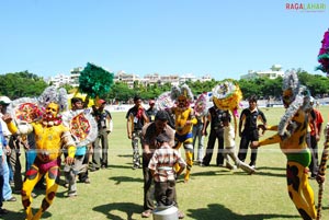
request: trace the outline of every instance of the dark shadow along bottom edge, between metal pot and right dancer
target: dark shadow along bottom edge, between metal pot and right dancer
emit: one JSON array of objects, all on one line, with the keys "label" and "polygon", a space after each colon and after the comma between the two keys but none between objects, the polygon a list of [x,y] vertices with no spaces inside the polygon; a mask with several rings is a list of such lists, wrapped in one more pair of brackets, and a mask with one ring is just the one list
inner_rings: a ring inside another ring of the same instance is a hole
[{"label": "dark shadow along bottom edge, between metal pot and right dancer", "polygon": [[225,208],[220,204],[209,204],[208,208],[189,209],[188,217],[197,220],[220,219],[220,220],[263,220],[263,219],[291,219],[299,216],[274,215],[274,213],[256,213],[256,215],[239,215]]}]

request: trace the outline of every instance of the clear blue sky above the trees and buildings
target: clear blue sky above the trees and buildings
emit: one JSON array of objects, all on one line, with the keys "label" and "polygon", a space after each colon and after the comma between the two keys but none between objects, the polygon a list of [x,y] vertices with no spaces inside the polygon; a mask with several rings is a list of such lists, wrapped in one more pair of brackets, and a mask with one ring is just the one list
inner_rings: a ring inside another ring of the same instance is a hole
[{"label": "clear blue sky above the trees and buildings", "polygon": [[[286,3],[325,3],[320,12]],[[211,74],[318,65],[328,1],[2,0],[0,73],[69,74],[88,61],[113,72]]]}]

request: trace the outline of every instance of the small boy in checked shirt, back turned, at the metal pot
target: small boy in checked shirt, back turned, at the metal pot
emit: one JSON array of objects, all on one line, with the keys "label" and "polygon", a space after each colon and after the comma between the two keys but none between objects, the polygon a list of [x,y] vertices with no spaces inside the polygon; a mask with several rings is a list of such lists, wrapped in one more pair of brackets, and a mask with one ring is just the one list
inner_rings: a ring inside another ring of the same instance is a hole
[{"label": "small boy in checked shirt, back turned, at the metal pot", "polygon": [[[172,206],[175,197],[175,178],[186,166],[180,153],[169,146],[170,137],[166,132],[156,138],[157,149],[148,164],[155,180],[155,197],[158,207]],[[179,163],[179,171],[174,171],[174,165]]]}]

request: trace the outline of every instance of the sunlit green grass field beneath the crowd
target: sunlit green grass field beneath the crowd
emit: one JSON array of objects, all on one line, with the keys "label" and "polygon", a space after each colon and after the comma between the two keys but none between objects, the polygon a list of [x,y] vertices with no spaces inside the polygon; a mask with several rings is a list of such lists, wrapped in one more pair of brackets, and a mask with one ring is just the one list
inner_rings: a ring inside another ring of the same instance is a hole
[{"label": "sunlit green grass field beneath the crowd", "polygon": [[[329,121],[328,108],[320,108],[325,121]],[[283,108],[280,107],[262,109],[270,125],[277,124],[283,114]],[[60,186],[54,204],[43,216],[43,219],[141,219],[143,172],[141,170],[132,170],[132,147],[126,136],[125,113],[112,114],[114,131],[110,136],[110,167],[90,173],[91,184],[89,185],[78,183],[79,195],[76,198],[65,197],[66,188]],[[269,131],[266,136],[272,134]],[[324,136],[319,143],[320,152],[322,151],[322,141]],[[236,142],[238,149],[239,138]],[[248,153],[247,162],[249,162],[249,155]],[[21,160],[24,161],[23,155]],[[258,169],[254,175],[247,175],[240,170],[228,171],[216,167],[214,165],[215,154],[212,164],[207,167],[193,166],[188,184],[183,183],[182,176],[178,181],[178,202],[180,210],[185,213],[185,219],[300,219],[286,192],[286,159],[279,146],[260,148]],[[314,180],[310,181],[310,184],[315,190],[317,204],[318,185]],[[33,200],[34,211],[38,209],[44,198],[44,192],[36,193],[38,196]],[[18,201],[4,202],[3,205],[3,208],[11,211],[10,215],[3,217],[4,219],[24,219],[20,195],[14,196],[18,197]],[[328,182],[326,182],[322,207],[322,219],[329,219]]]}]

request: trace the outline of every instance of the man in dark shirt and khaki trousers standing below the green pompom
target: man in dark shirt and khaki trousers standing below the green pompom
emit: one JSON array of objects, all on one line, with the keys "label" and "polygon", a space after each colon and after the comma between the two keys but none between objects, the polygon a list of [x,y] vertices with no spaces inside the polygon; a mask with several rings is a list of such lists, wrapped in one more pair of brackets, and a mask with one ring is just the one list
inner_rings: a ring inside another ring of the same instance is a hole
[{"label": "man in dark shirt and khaki trousers standing below the green pompom", "polygon": [[109,140],[107,136],[112,132],[113,123],[112,116],[109,111],[105,109],[106,101],[99,100],[98,107],[93,107],[93,115],[98,123],[99,135],[93,142],[93,154],[92,154],[92,167],[91,171],[97,171],[100,167],[105,169],[109,165],[107,162],[107,150]]}]

